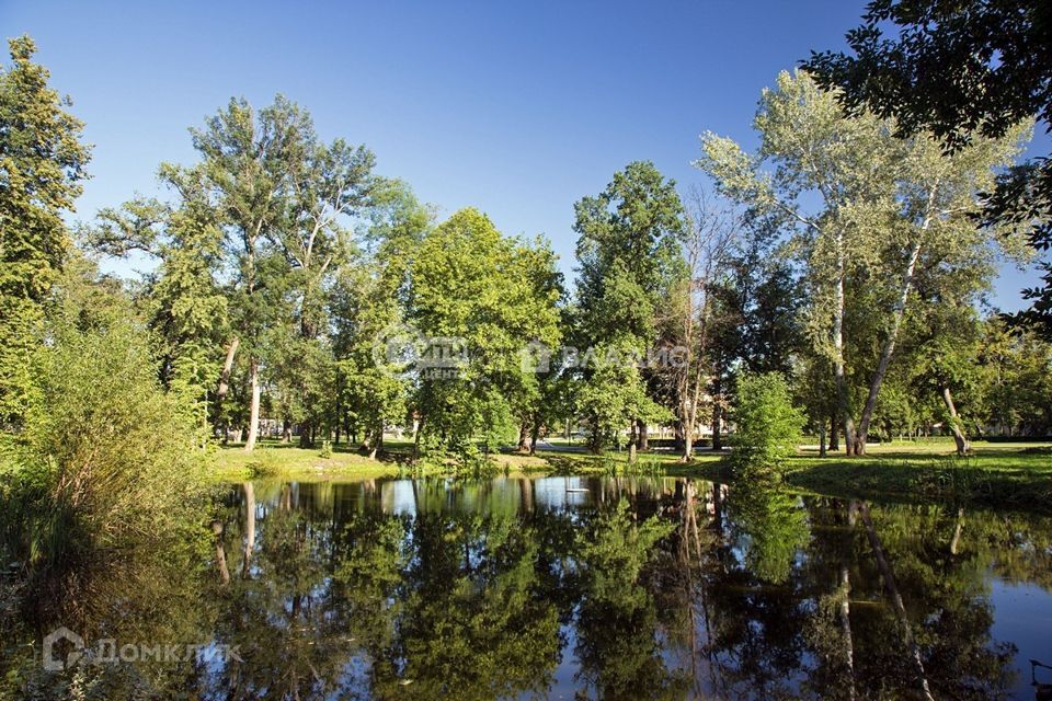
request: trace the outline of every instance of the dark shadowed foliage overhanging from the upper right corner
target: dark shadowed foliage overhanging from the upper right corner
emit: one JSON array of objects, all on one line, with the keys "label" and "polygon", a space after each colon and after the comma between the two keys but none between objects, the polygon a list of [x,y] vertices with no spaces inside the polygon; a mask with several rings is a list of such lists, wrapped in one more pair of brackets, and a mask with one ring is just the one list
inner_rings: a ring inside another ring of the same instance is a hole
[{"label": "dark shadowed foliage overhanging from the upper right corner", "polygon": [[[803,65],[839,88],[850,112],[894,117],[903,136],[930,130],[952,153],[1034,116],[1052,129],[1050,33],[1043,0],[874,0],[847,33],[853,56],[812,51]],[[1036,249],[1052,248],[1052,161],[1034,158],[999,175],[981,220],[1026,225]],[[1043,286],[1025,292],[1032,306],[1014,320],[1052,336],[1052,266],[1041,268]]]}]

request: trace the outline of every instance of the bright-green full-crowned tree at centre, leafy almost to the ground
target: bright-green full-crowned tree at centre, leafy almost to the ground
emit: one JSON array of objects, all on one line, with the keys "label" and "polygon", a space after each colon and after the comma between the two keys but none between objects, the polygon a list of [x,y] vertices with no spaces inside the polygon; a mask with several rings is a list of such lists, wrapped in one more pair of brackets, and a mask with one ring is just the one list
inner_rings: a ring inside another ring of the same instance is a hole
[{"label": "bright-green full-crowned tree at centre, leafy almost to the ground", "polygon": [[[522,350],[559,343],[561,297],[554,255],[541,240],[503,237],[485,215],[461,209],[430,231],[412,264],[408,321],[454,367],[419,374],[418,437],[427,447],[470,456],[479,439],[494,449],[511,438],[524,386]],[[437,343],[437,342],[436,342]]]}]

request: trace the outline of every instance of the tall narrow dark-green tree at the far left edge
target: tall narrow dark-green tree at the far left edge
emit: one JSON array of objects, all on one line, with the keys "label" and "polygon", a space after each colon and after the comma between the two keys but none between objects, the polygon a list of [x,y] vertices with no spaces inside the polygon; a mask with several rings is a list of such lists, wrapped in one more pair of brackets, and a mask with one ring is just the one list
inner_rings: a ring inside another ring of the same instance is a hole
[{"label": "tall narrow dark-green tree at the far left edge", "polygon": [[73,210],[90,149],[83,124],[34,64],[28,36],[8,43],[0,69],[0,424],[16,424],[31,387],[30,355],[43,303],[70,246],[62,215]]}]

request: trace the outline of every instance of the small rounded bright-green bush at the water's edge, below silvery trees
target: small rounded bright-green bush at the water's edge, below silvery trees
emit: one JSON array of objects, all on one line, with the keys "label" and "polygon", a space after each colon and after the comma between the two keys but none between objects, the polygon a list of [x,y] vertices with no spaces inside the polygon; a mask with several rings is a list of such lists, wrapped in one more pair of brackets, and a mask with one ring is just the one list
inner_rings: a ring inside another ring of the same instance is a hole
[{"label": "small rounded bright-green bush at the water's edge, below silvery trees", "polygon": [[786,378],[779,372],[744,375],[737,382],[735,430],[729,441],[735,471],[778,471],[797,451],[803,412],[792,405]]}]

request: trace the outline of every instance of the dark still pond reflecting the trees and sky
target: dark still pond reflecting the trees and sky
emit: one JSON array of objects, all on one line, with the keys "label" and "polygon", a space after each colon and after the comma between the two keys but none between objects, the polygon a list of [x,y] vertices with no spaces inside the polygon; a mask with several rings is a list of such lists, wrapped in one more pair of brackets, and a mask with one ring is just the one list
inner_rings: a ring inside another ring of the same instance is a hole
[{"label": "dark still pond reflecting the trees and sky", "polygon": [[[65,620],[26,620],[37,644],[64,623],[89,651],[110,645],[108,664],[103,651],[34,683],[99,698],[1027,699],[1029,659],[1052,664],[1041,516],[682,478],[388,479],[235,485],[214,529],[201,571],[114,574]],[[197,646],[159,658],[174,643]]]}]

